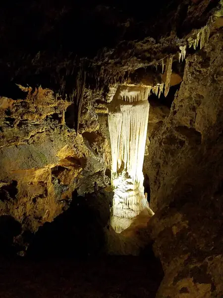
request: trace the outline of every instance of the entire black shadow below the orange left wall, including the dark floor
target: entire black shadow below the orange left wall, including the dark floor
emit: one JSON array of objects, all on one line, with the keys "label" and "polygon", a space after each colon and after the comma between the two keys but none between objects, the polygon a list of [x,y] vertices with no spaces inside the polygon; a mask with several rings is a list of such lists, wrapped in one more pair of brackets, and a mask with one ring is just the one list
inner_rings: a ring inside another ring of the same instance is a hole
[{"label": "entire black shadow below the orange left wall, including the dark floor", "polygon": [[[155,298],[164,273],[151,244],[138,257],[105,254],[111,201],[104,189],[85,197],[75,191],[54,222],[35,235],[24,231],[28,257],[0,259],[1,298]],[[0,217],[0,252],[16,253],[13,237],[19,234],[18,222]]]}]

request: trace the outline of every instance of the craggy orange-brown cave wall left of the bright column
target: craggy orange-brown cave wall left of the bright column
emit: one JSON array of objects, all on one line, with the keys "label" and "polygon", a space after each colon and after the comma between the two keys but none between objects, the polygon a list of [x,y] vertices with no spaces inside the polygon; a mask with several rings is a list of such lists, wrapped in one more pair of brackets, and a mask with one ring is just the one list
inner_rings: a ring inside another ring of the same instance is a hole
[{"label": "craggy orange-brown cave wall left of the bright column", "polygon": [[71,102],[20,89],[22,99],[0,97],[0,216],[36,232],[69,207],[74,189],[84,195],[110,183],[110,139],[107,115],[95,113],[88,92],[76,134]]}]

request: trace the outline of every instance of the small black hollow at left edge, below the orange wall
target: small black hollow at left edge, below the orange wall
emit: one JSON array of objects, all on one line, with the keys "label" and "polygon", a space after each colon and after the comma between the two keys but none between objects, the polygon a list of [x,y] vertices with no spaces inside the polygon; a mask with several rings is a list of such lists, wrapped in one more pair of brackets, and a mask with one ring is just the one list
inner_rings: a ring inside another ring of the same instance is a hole
[{"label": "small black hollow at left edge, below the orange wall", "polygon": [[18,252],[14,237],[22,231],[21,224],[10,215],[0,216],[0,255],[13,256]]}]

